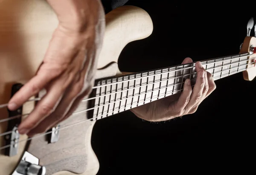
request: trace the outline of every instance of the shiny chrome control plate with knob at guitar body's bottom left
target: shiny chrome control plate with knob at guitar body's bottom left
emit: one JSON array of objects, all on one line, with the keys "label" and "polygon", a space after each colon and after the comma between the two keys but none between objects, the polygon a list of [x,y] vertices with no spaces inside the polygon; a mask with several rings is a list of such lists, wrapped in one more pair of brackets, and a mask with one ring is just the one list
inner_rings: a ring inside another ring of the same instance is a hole
[{"label": "shiny chrome control plate with knob at guitar body's bottom left", "polygon": [[24,152],[19,165],[12,175],[46,175],[46,168],[39,165],[39,159],[29,152]]}]

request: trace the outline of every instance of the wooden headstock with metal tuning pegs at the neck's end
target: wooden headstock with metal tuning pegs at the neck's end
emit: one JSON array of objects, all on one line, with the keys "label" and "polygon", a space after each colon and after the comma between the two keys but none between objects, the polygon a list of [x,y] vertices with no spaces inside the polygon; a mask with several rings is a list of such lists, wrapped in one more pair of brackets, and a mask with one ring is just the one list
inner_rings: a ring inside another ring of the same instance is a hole
[{"label": "wooden headstock with metal tuning pegs at the neck's end", "polygon": [[[253,18],[250,18],[247,24],[247,37],[241,44],[239,54],[250,53],[248,59],[247,70],[243,71],[244,80],[251,81],[256,77],[256,25],[254,25]],[[254,27],[254,37],[250,36],[251,30]],[[254,59],[255,58],[255,59]],[[253,63],[254,62],[254,63]]]}]

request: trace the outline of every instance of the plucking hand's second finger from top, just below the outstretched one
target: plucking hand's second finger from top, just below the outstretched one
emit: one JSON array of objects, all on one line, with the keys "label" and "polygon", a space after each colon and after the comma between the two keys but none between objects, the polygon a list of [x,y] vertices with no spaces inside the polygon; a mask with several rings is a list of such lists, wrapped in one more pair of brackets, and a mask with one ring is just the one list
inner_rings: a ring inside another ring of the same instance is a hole
[{"label": "plucking hand's second finger from top, just below the outstretched one", "polygon": [[62,78],[52,82],[47,94],[37,103],[29,116],[20,123],[18,127],[20,134],[28,133],[31,129],[36,127],[41,120],[44,120],[44,118],[53,112],[64,93],[63,85],[65,81],[66,79]]}]

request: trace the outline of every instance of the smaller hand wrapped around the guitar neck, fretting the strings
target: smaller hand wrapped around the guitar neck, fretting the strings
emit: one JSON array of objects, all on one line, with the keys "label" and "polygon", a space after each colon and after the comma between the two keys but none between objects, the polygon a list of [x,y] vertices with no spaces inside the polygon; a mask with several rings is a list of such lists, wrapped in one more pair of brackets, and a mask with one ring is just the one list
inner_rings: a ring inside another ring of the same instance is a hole
[{"label": "smaller hand wrapped around the guitar neck, fretting the strings", "polygon": [[[192,63],[192,59],[184,59],[182,64],[185,63]],[[201,62],[196,62],[195,69],[197,77],[193,90],[190,80],[186,79],[181,93],[138,106],[131,111],[148,121],[165,121],[194,113],[216,88],[212,75],[202,67]]]}]

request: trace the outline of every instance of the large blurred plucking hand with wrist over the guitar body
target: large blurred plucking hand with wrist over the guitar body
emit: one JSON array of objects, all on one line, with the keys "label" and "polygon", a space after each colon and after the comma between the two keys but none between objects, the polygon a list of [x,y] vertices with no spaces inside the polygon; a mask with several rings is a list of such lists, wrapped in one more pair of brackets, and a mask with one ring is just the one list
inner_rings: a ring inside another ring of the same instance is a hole
[{"label": "large blurred plucking hand with wrist over the guitar body", "polygon": [[47,0],[59,25],[36,75],[9,101],[15,110],[42,89],[47,93],[20,123],[20,134],[45,132],[69,117],[94,83],[105,31],[99,0]]}]

